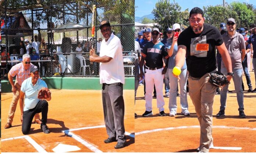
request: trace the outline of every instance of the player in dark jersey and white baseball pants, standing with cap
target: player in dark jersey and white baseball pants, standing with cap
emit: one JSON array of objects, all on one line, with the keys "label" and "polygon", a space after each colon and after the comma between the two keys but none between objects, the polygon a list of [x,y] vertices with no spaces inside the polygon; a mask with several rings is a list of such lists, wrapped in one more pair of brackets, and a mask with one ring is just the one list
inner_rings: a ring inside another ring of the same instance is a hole
[{"label": "player in dark jersey and white baseball pants, standing with cap", "polygon": [[[152,41],[147,43],[143,48],[141,53],[142,58],[140,62],[141,69],[141,78],[143,78],[142,67],[144,61],[146,61],[145,66],[145,81],[147,83],[146,86],[146,111],[142,114],[142,116],[150,116],[153,115],[152,112],[152,93],[154,89],[154,84],[156,86],[157,93],[157,108],[159,108],[159,115],[166,116],[164,113],[164,97],[163,97],[163,79],[164,73],[166,73],[167,68],[164,68],[163,71],[163,57],[168,58],[168,53],[164,51],[164,44],[158,40],[159,38],[159,29],[154,28],[152,30]],[[168,61],[168,60],[167,60]],[[168,64],[166,64],[166,67]]]}]

